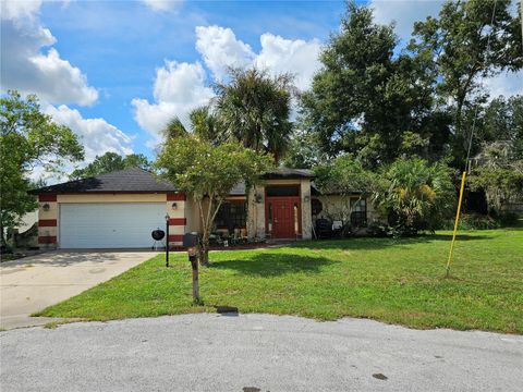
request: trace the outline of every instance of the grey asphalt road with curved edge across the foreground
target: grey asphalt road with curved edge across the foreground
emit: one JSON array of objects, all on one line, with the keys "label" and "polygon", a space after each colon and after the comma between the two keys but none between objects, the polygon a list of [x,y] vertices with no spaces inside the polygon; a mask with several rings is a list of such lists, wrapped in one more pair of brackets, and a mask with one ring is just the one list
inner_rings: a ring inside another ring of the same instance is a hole
[{"label": "grey asphalt road with curved edge across the foreground", "polygon": [[523,336],[185,315],[0,332],[1,391],[522,391]]}]

